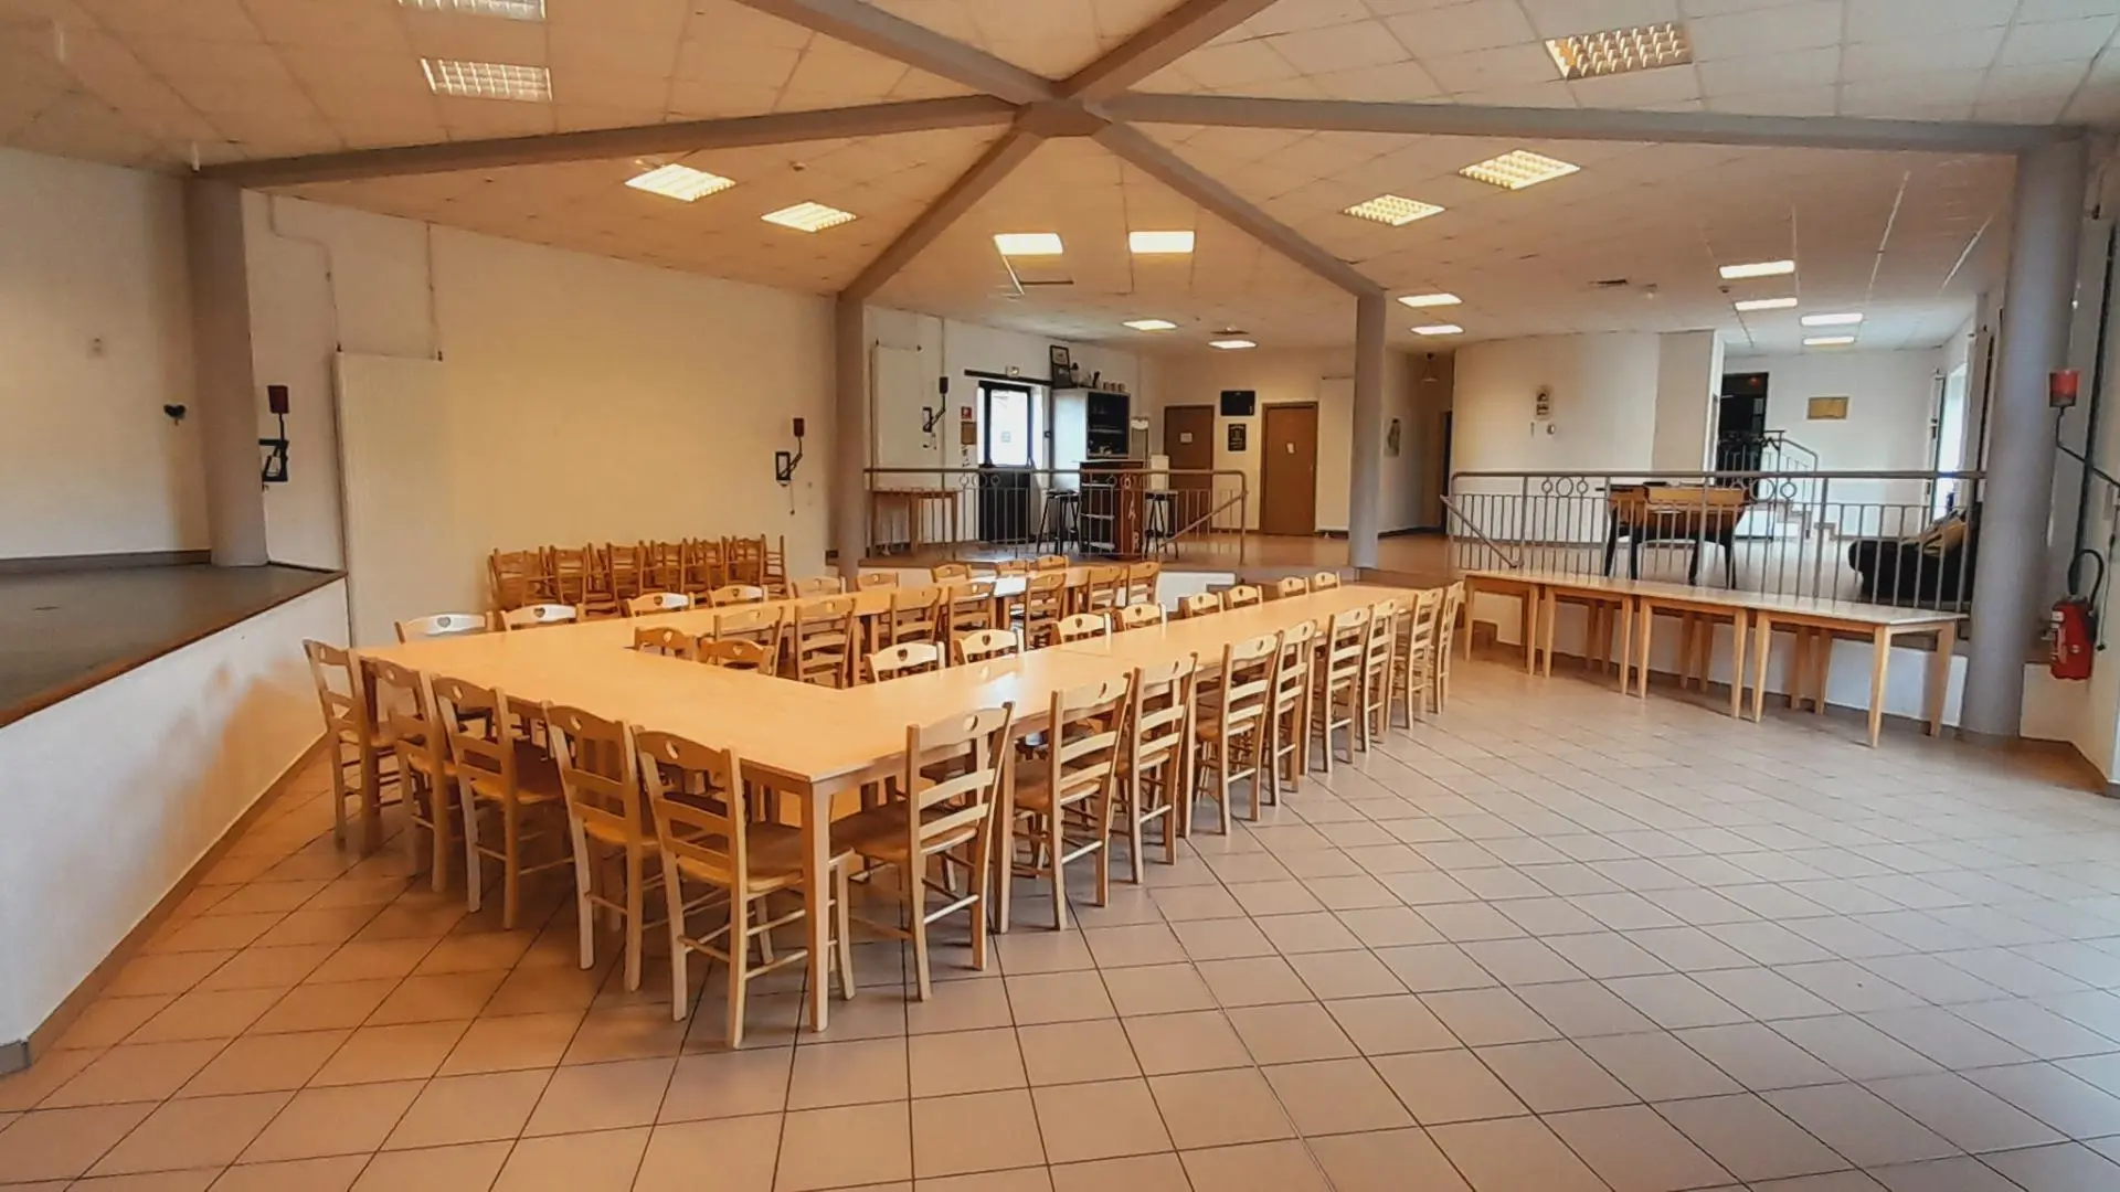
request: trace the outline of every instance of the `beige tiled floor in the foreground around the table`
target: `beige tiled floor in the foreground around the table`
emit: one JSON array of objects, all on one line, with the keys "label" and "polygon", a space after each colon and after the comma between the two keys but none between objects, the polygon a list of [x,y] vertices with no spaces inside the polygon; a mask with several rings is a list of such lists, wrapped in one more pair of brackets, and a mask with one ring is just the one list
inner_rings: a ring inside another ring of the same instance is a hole
[{"label": "beige tiled floor in the foreground around the table", "polygon": [[1836,717],[1459,687],[1079,931],[1024,897],[931,1003],[865,944],[827,1035],[782,984],[738,1052],[719,982],[672,1024],[653,961],[577,969],[564,891],[500,933],[335,851],[312,774],[0,1080],[0,1184],[2120,1188],[2120,806]]}]

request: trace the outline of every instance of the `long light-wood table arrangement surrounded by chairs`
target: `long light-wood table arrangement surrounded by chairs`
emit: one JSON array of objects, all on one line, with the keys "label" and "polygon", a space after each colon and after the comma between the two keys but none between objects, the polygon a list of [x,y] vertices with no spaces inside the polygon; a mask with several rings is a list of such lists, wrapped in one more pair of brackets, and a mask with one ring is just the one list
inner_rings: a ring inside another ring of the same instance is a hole
[{"label": "long light-wood table arrangement surrounded by chairs", "polygon": [[1164,628],[1132,630],[1109,641],[1052,647],[888,683],[850,689],[700,666],[628,649],[640,624],[693,628],[710,611],[661,613],[621,621],[581,621],[430,638],[360,651],[401,666],[498,687],[511,698],[566,704],[600,717],[674,732],[734,749],[746,778],[801,806],[803,876],[810,944],[810,1024],[831,1018],[829,980],[829,821],[833,800],[890,776],[905,753],[905,725],[933,723],[971,708],[1015,704],[1020,732],[1039,732],[1056,691],[1100,683],[1149,662],[1187,651],[1219,658],[1223,643],[1244,641],[1357,604],[1403,596],[1393,588],[1346,585],[1289,596],[1255,609],[1219,613]]}]

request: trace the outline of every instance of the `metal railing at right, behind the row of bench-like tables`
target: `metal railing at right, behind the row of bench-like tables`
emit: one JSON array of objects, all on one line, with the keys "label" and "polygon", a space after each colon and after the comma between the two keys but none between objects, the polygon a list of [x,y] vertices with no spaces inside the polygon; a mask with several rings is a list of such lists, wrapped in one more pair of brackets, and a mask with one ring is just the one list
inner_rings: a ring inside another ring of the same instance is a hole
[{"label": "metal railing at right, behind the row of bench-like tables", "polygon": [[1459,568],[1965,609],[1982,481],[1978,471],[1465,471],[1444,509]]}]

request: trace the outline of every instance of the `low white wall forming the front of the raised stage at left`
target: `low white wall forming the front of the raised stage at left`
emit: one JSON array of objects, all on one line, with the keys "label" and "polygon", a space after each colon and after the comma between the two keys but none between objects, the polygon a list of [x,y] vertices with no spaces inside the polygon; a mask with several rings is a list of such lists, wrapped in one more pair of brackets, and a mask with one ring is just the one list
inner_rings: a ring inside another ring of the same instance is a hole
[{"label": "low white wall forming the front of the raised stage at left", "polygon": [[346,585],[0,728],[0,1044],[25,1039],[322,734],[303,638]]}]

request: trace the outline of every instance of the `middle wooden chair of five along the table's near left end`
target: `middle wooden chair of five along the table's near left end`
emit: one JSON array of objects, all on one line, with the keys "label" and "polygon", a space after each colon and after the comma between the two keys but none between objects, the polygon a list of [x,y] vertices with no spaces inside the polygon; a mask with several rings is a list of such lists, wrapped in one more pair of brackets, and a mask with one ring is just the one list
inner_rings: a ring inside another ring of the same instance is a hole
[{"label": "middle wooden chair of five along the table's near left end", "polygon": [[[517,708],[494,687],[435,677],[435,713],[449,732],[456,800],[464,817],[464,897],[477,914],[485,895],[485,859],[500,861],[500,927],[515,929],[524,874],[558,870],[572,859],[566,848],[566,793],[560,768],[528,734],[517,734],[517,711],[543,719],[541,708]],[[481,814],[494,812],[500,842],[481,842]],[[526,817],[547,817],[545,831],[524,834]],[[524,865],[526,844],[549,844],[551,859]]]}]

